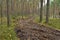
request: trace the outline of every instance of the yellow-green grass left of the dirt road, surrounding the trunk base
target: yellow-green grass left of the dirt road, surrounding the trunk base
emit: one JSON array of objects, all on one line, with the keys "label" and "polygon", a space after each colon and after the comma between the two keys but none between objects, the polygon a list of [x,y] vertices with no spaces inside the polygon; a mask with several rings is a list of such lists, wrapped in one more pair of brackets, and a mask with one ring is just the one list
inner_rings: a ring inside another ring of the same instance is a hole
[{"label": "yellow-green grass left of the dirt road, surrounding the trunk base", "polygon": [[18,38],[14,32],[14,19],[11,19],[9,27],[7,27],[7,21],[5,17],[3,17],[2,21],[3,23],[0,24],[0,40],[17,40]]}]

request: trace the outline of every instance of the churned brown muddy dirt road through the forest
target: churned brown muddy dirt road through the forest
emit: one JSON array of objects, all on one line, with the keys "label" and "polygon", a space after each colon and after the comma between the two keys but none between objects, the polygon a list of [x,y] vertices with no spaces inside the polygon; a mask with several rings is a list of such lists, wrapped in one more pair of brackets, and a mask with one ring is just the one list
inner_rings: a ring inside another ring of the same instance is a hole
[{"label": "churned brown muddy dirt road through the forest", "polygon": [[20,20],[15,32],[20,40],[60,40],[60,31],[33,21]]}]

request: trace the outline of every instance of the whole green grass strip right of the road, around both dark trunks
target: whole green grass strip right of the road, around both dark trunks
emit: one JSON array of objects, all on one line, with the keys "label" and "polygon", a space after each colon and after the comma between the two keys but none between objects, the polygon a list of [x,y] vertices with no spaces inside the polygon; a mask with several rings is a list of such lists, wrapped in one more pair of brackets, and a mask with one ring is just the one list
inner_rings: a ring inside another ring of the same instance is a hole
[{"label": "whole green grass strip right of the road, around both dark trunks", "polygon": [[[34,21],[38,23],[39,22],[39,17],[36,17]],[[45,21],[46,20],[44,18],[43,21],[42,21],[42,24],[45,25],[46,24]],[[55,29],[60,29],[60,19],[50,18],[49,23],[46,24],[46,25],[48,25],[49,27],[55,28]]]}]

